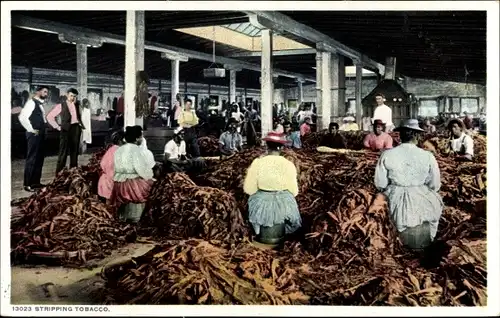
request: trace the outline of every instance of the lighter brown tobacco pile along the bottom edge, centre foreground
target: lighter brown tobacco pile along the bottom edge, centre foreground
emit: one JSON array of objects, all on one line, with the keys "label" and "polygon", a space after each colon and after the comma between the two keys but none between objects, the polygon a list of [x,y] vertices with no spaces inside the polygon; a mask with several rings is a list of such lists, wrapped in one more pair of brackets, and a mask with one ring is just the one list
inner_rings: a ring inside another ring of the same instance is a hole
[{"label": "lighter brown tobacco pile along the bottom edge, centre foreground", "polygon": [[122,273],[104,271],[111,304],[291,305],[308,300],[286,260],[249,243],[232,249],[200,240],[165,244],[121,267]]}]

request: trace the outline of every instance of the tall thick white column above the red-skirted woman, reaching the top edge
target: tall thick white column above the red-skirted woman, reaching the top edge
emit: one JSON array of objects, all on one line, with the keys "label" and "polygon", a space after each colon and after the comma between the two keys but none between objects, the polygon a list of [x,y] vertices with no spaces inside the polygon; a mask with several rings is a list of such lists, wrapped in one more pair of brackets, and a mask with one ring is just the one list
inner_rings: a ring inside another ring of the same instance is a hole
[{"label": "tall thick white column above the red-skirted woman, reaching the top edge", "polygon": [[137,123],[134,99],[137,88],[137,71],[144,69],[144,30],[144,11],[127,11],[125,35],[125,127],[134,126]]}]

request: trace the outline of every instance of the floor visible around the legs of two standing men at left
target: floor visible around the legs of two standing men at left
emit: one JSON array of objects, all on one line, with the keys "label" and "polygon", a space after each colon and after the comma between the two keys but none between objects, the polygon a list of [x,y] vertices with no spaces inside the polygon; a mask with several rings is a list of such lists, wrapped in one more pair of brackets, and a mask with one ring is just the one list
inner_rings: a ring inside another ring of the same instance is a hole
[{"label": "floor visible around the legs of two standing men at left", "polygon": [[[85,165],[90,159],[90,154],[78,156],[78,164]],[[11,165],[11,191],[12,200],[19,199],[23,197],[28,197],[31,195],[30,192],[26,192],[23,189],[23,179],[24,179],[24,163],[25,160],[13,160]],[[42,170],[42,183],[47,184],[54,179],[56,174],[56,163],[57,157],[51,156],[46,157]],[[68,158],[69,163],[69,158]]]}]

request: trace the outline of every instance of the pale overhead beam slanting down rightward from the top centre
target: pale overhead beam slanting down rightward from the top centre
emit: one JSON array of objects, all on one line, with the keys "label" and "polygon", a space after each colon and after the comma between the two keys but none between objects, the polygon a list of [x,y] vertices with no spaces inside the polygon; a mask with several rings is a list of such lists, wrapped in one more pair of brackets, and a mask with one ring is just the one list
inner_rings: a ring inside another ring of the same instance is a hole
[{"label": "pale overhead beam slanting down rightward from the top centre", "polygon": [[287,15],[275,11],[243,11],[250,23],[260,29],[271,29],[281,34],[293,34],[301,39],[313,43],[323,43],[328,52],[339,53],[350,59],[361,61],[363,67],[383,74],[384,65],[370,59],[366,55],[351,49],[350,47],[336,41],[326,34],[319,32],[305,24],[299,23]]}]

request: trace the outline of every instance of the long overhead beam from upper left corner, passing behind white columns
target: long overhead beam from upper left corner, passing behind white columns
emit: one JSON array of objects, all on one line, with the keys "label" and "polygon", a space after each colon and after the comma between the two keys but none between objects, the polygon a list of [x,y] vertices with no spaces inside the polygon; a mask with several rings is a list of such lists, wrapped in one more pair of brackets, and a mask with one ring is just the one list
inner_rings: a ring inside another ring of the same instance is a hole
[{"label": "long overhead beam from upper left corner, passing behind white columns", "polygon": [[[92,30],[89,28],[83,28],[78,26],[72,26],[64,23],[59,23],[55,21],[37,19],[26,17],[22,15],[12,15],[11,20],[12,26],[22,29],[34,30],[38,32],[53,33],[53,34],[68,34],[71,33],[73,37],[81,36],[84,38],[94,38],[96,40],[102,41],[103,43],[111,43],[118,45],[125,45],[125,37],[122,35],[112,34],[108,32],[101,32]],[[212,62],[212,54],[192,51],[184,48],[178,48],[175,46],[170,46],[166,44],[146,41],[144,45],[145,50],[156,51],[167,53],[170,58],[184,60],[186,58],[192,58],[195,60]],[[238,66],[243,69],[252,70],[256,72],[261,71],[261,67],[258,64],[248,63],[245,61],[231,59],[227,57],[216,56],[215,62],[219,64],[228,64]],[[301,78],[309,82],[316,82],[316,78],[312,76],[305,76],[303,74],[289,72],[280,69],[274,69],[274,74],[289,78]]]}]

